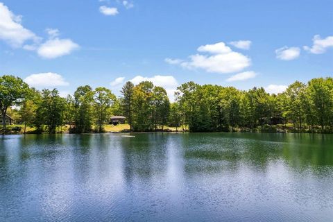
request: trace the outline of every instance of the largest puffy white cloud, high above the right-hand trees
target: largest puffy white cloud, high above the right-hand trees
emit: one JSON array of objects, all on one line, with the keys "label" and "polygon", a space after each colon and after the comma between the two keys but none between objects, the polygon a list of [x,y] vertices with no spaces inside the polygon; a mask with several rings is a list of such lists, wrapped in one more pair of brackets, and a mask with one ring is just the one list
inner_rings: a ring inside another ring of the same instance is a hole
[{"label": "largest puffy white cloud, high above the right-hand trees", "polygon": [[210,54],[189,56],[189,61],[180,62],[180,65],[187,69],[204,69],[207,72],[228,74],[241,71],[251,64],[250,58],[232,51],[224,42],[200,46],[198,51]]}]

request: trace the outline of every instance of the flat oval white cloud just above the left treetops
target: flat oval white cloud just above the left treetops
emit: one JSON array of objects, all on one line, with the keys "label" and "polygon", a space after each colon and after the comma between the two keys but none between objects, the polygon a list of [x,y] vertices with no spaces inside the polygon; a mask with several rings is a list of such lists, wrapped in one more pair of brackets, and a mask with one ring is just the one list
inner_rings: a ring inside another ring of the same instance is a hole
[{"label": "flat oval white cloud just above the left treetops", "polygon": [[69,85],[62,76],[53,72],[32,74],[26,77],[24,82],[33,87],[57,87]]}]

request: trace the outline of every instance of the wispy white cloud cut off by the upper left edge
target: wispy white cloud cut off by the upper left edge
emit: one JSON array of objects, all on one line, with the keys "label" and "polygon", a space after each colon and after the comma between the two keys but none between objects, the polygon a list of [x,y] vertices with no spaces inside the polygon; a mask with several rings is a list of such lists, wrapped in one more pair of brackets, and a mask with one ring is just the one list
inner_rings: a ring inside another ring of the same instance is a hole
[{"label": "wispy white cloud cut off by the upper left edge", "polygon": [[14,15],[0,2],[0,40],[4,40],[15,48],[21,47],[28,40],[33,42],[40,40],[35,33],[24,28],[21,22],[21,15]]}]

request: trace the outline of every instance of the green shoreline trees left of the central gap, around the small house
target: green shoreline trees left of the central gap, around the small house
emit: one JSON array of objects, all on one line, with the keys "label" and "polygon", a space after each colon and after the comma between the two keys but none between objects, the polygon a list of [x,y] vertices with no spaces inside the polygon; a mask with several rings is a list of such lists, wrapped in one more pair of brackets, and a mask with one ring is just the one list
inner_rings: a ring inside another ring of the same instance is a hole
[{"label": "green shoreline trees left of the central gap, around the small house", "polygon": [[[15,120],[36,128],[35,133],[57,133],[67,125],[69,133],[102,133],[112,115],[128,117],[130,130],[152,131],[163,128],[169,119],[169,98],[162,87],[151,82],[126,83],[123,97],[117,99],[110,89],[80,86],[73,95],[62,98],[57,89],[29,87],[16,76],[0,77],[0,109],[3,129],[6,114],[15,107]],[[129,102],[128,102],[129,101]],[[128,111],[129,110],[129,111]]]}]

